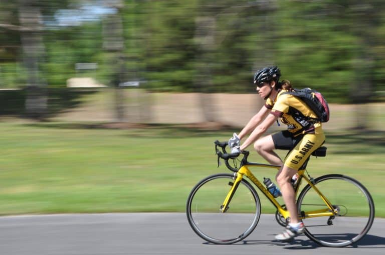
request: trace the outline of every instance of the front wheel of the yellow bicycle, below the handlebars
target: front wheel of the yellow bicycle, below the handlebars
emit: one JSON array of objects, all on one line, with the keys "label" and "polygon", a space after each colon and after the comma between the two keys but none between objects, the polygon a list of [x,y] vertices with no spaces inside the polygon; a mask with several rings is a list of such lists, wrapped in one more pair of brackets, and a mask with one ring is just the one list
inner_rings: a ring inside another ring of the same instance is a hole
[{"label": "front wheel of the yellow bicycle, below the handlebars", "polygon": [[235,243],[246,238],[258,224],[261,202],[254,187],[245,179],[238,185],[229,209],[220,211],[233,181],[233,174],[210,175],[199,181],[188,195],[188,223],[204,240],[216,244]]}]

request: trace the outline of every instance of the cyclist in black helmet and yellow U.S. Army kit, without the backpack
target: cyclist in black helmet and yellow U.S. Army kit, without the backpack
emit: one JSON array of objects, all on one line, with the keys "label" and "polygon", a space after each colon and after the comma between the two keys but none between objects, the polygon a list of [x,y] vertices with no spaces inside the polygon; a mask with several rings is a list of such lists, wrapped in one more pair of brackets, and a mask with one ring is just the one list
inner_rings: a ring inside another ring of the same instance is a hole
[{"label": "cyclist in black helmet and yellow U.S. Army kit, without the backpack", "polygon": [[[310,154],[322,145],[325,135],[321,122],[307,118],[315,118],[316,115],[302,100],[287,93],[282,94],[292,90],[292,87],[288,80],[279,81],[280,76],[281,71],[277,66],[264,67],[255,73],[256,90],[266,103],[239,134],[234,133],[229,145],[232,152],[240,152],[254,142],[254,148],[269,163],[281,165],[276,181],[290,213],[290,223],[282,233],[275,236],[275,239],[290,240],[304,231],[304,225],[298,217],[291,178]],[[260,138],[269,126],[275,121],[278,122],[278,118],[287,124],[287,130]],[[248,134],[241,145],[241,139]],[[282,161],[274,149],[287,149],[289,152]]]}]

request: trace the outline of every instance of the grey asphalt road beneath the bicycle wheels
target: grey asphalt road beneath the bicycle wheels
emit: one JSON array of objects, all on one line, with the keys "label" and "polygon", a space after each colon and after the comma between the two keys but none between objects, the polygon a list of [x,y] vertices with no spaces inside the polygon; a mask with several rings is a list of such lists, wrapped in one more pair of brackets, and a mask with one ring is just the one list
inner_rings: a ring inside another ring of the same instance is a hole
[{"label": "grey asphalt road beneath the bicycle wheels", "polygon": [[197,236],[184,213],[57,214],[0,217],[0,254],[383,254],[385,219],[376,218],[354,247],[320,247],[305,235],[275,242],[281,231],[274,215],[262,215],[245,241],[209,244]]}]

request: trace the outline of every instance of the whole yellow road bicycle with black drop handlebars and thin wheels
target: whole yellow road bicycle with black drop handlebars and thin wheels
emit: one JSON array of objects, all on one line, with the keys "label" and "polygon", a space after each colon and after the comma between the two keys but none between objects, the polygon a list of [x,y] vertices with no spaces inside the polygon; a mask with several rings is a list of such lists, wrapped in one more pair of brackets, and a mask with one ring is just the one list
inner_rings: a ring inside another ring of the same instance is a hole
[{"label": "whole yellow road bicycle with black drop handlebars and thin wheels", "polygon": [[[286,226],[290,215],[285,205],[281,205],[249,169],[279,169],[280,166],[249,162],[249,151],[227,153],[227,145],[226,141],[215,141],[218,166],[220,158],[224,159],[233,174],[210,175],[195,185],[186,203],[190,226],[200,237],[216,244],[231,244],[246,238],[258,224],[261,202],[257,191],[244,176],[277,208],[275,218],[280,225]],[[312,155],[325,156],[326,147],[319,147]],[[293,183],[299,217],[305,224],[304,233],[323,246],[343,247],[357,242],[369,231],[374,220],[370,193],[360,182],[343,174],[311,177],[306,170],[309,159],[299,169],[298,179]],[[233,160],[233,165],[229,160]],[[352,219],[347,218],[349,215],[354,216],[353,224],[349,224]]]}]

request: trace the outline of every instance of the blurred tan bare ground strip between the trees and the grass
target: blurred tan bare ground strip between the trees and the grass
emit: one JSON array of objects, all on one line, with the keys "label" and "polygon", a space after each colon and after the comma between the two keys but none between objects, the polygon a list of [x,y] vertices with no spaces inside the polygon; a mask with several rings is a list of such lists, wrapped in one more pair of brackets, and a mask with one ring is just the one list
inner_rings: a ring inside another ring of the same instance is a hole
[{"label": "blurred tan bare ground strip between the trees and the grass", "polygon": [[[101,128],[116,129],[153,127],[154,124],[204,130],[242,128],[265,102],[255,93],[145,93],[132,89],[122,92],[125,95],[125,122],[117,122],[114,91],[108,89],[87,97],[78,107],[58,114],[52,120],[110,122],[101,124]],[[211,106],[203,107],[203,100],[210,101]],[[323,128],[346,130],[357,126],[357,121],[361,121],[370,129],[383,130],[383,105],[329,104],[330,121],[324,123]],[[209,119],[213,121],[208,121]],[[285,127],[273,125],[273,128]]]}]

